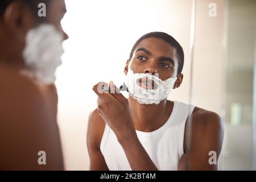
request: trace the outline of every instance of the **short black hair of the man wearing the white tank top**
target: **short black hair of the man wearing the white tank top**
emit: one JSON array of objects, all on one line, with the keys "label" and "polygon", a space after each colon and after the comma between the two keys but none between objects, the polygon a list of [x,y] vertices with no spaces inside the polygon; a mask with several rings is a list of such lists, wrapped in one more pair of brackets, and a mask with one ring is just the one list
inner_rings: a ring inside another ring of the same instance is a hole
[{"label": "short black hair of the man wearing the white tank top", "polygon": [[135,48],[138,46],[139,43],[142,42],[144,39],[148,38],[158,38],[166,41],[167,43],[171,44],[176,49],[176,58],[178,61],[178,68],[177,68],[177,74],[181,73],[184,65],[184,52],[183,48],[180,46],[180,44],[175,40],[171,35],[166,34],[164,32],[150,32],[148,34],[143,35],[141,38],[137,40],[137,42],[134,44],[133,49],[131,49],[130,57],[129,59],[133,57],[133,53],[135,51]]}]

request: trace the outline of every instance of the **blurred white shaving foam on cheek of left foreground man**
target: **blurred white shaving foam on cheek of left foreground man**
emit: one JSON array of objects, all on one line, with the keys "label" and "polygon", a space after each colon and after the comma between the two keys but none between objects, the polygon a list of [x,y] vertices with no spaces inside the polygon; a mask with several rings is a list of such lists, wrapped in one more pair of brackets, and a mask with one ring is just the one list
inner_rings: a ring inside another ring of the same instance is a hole
[{"label": "blurred white shaving foam on cheek of left foreground man", "polygon": [[40,84],[53,83],[64,53],[62,42],[63,35],[51,24],[42,24],[28,31],[23,50],[26,69],[22,73]]}]

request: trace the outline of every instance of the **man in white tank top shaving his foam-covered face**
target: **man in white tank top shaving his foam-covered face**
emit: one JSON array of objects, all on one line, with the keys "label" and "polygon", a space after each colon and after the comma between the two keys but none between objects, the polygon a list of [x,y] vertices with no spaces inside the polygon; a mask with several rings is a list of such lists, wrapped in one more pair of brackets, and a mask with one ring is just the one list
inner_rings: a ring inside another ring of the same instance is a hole
[{"label": "man in white tank top shaving his foam-covered face", "polygon": [[[172,36],[151,32],[135,43],[125,65],[128,100],[118,92],[102,90],[101,85],[106,83],[93,87],[98,107],[88,125],[91,170],[217,169],[217,163],[209,162],[209,158],[213,152],[218,159],[221,152],[224,129],[220,117],[212,111],[167,100],[168,92],[181,85],[183,62],[183,49]],[[159,85],[147,77],[156,74],[161,80]],[[146,81],[141,80],[143,75]],[[131,92],[129,82],[134,77],[146,94]],[[115,89],[113,82],[109,86]],[[164,97],[151,95],[158,87]]]}]

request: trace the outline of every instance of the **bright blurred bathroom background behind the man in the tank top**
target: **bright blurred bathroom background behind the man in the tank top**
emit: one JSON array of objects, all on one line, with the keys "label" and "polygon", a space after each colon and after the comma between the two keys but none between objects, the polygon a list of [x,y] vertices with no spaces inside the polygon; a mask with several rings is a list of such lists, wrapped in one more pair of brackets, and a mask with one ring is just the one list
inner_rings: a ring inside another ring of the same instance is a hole
[{"label": "bright blurred bathroom background behind the man in the tank top", "polygon": [[169,99],[192,102],[224,120],[218,168],[256,169],[256,1],[65,2],[62,24],[69,40],[56,81],[65,169],[89,169],[86,130],[96,109],[93,85],[110,80],[121,85],[133,44],[151,31],[167,32],[184,49],[183,84]]}]

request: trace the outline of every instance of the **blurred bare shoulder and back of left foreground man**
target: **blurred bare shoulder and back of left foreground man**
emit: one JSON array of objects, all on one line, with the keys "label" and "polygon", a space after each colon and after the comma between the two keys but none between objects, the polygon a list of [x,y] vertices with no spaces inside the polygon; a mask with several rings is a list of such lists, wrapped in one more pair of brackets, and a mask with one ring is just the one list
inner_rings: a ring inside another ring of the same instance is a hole
[{"label": "blurred bare shoulder and back of left foreground man", "polygon": [[[63,169],[56,115],[51,114],[40,86],[7,69],[0,73],[0,85],[0,132],[5,135],[0,139],[3,166],[14,161],[12,169]],[[40,150],[47,151],[47,166],[34,163]]]}]

